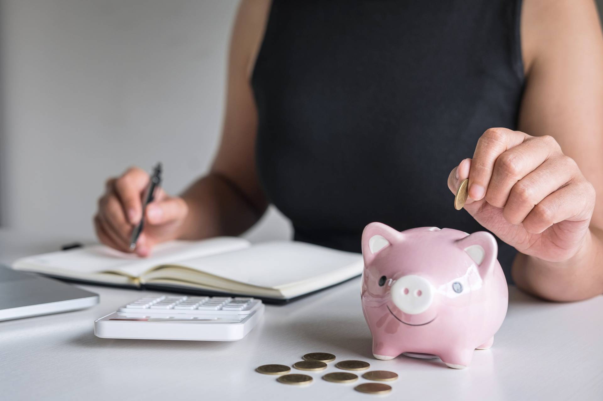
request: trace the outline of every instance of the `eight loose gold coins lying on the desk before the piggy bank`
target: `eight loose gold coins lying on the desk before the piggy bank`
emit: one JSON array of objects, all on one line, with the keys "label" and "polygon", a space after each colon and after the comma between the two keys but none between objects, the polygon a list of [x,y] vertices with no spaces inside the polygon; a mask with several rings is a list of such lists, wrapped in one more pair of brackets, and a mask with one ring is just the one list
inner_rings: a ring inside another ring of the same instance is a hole
[{"label": "eight loose gold coins lying on the desk before the piggy bank", "polygon": [[[293,367],[298,370],[320,371],[327,368],[328,362],[335,361],[335,355],[327,352],[311,352],[306,353],[302,357],[303,361],[298,361],[293,364]],[[365,361],[339,361],[335,364],[336,368],[341,370],[367,370],[370,364]],[[310,384],[313,380],[312,376],[300,375],[291,372],[291,368],[287,365],[262,365],[256,368],[259,373],[264,375],[279,375],[277,381],[283,384],[304,385]],[[393,371],[387,370],[372,370],[367,371],[362,375],[362,378],[385,382],[393,381],[398,378],[398,375]],[[333,371],[323,376],[323,379],[332,383],[352,383],[358,380],[358,375],[348,371]],[[357,385],[354,390],[368,394],[386,394],[391,391],[391,386],[384,383],[362,383]]]}]

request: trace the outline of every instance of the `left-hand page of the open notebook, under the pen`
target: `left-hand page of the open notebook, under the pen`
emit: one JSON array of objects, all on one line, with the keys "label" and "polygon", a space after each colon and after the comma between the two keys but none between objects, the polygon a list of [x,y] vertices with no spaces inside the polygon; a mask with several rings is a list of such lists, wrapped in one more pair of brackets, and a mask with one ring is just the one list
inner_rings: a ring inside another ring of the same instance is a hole
[{"label": "left-hand page of the open notebook, under the pen", "polygon": [[14,267],[22,270],[36,270],[36,267],[39,267],[45,272],[49,270],[63,272],[68,270],[78,273],[118,271],[136,277],[160,264],[178,263],[185,259],[242,249],[249,245],[249,241],[238,237],[216,237],[203,241],[169,241],[154,247],[147,258],[119,252],[104,245],[95,245],[28,256],[17,260]]}]

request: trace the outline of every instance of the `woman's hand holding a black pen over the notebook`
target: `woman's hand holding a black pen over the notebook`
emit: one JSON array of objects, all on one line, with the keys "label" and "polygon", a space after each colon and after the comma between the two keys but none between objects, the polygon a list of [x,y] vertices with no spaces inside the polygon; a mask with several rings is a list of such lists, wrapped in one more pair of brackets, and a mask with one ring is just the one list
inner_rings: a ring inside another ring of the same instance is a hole
[{"label": "woman's hand holding a black pen over the notebook", "polygon": [[[142,218],[142,197],[148,182],[148,173],[138,167],[131,167],[120,177],[107,180],[94,217],[96,235],[101,243],[131,252],[130,237]],[[182,197],[169,196],[162,188],[157,188],[153,202],[145,210],[144,228],[133,252],[147,256],[154,245],[178,238],[187,214],[188,205]]]}]

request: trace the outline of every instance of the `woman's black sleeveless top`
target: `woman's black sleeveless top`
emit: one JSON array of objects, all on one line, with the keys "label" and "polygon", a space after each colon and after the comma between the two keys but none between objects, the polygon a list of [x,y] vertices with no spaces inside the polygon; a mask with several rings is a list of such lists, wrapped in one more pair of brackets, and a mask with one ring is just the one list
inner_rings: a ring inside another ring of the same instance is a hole
[{"label": "woman's black sleeveless top", "polygon": [[[274,0],[251,83],[256,159],[295,240],[361,251],[370,222],[483,230],[450,170],[514,129],[520,0]],[[516,251],[499,241],[507,278]]]}]

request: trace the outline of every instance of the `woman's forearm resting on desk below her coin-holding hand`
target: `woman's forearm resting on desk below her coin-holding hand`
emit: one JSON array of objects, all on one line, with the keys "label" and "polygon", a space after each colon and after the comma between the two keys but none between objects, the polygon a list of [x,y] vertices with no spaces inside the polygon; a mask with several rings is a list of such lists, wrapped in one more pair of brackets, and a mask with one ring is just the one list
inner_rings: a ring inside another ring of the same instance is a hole
[{"label": "woman's forearm resting on desk below her coin-holding hand", "polygon": [[603,294],[603,232],[591,228],[569,260],[549,262],[517,253],[513,280],[520,289],[552,301],[573,301]]}]

